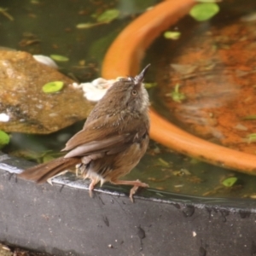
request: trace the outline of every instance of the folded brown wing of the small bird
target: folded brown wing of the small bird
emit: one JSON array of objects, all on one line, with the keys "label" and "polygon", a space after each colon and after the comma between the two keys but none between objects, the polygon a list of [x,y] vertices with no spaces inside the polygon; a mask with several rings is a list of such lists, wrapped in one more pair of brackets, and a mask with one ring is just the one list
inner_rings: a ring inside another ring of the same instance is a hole
[{"label": "folded brown wing of the small bird", "polygon": [[[116,120],[116,117],[113,117]],[[108,117],[90,121],[82,131],[74,135],[66,144],[63,151],[71,150],[67,157],[95,154],[100,152],[121,151],[127,144],[133,143],[138,137],[148,131],[142,125],[141,119],[131,119],[129,116],[122,120],[122,125],[116,124]]]}]

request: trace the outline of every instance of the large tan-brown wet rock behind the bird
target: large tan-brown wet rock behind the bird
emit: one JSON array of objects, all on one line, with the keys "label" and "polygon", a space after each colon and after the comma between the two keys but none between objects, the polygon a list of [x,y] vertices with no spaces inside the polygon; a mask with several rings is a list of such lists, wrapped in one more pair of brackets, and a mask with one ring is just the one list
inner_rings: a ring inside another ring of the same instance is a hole
[{"label": "large tan-brown wet rock behind the bird", "polygon": [[[44,93],[42,87],[62,81],[63,89]],[[84,99],[73,80],[22,51],[0,51],[0,114],[9,116],[0,121],[7,132],[47,134],[85,119],[92,104]]]}]

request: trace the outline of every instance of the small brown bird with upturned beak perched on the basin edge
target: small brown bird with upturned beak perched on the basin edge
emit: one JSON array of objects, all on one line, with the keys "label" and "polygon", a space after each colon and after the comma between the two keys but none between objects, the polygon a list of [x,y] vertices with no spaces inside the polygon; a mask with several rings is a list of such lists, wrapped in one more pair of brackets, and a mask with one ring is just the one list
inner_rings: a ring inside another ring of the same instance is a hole
[{"label": "small brown bird with upturned beak perched on the basin edge", "polygon": [[75,134],[62,151],[64,157],[34,166],[20,177],[44,183],[68,168],[77,166],[82,177],[90,178],[90,196],[97,183],[132,185],[135,194],[148,184],[139,180],[125,181],[119,177],[137,166],[148,148],[148,92],[143,78],[149,65],[135,78],[119,79],[98,102],[85,121],[84,128]]}]

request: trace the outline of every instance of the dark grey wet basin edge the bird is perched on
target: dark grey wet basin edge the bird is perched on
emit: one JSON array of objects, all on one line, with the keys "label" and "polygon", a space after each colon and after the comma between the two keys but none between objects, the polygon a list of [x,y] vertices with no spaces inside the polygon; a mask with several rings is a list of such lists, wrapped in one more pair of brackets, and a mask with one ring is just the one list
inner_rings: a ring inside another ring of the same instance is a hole
[{"label": "dark grey wet basin edge the bird is perched on", "polygon": [[255,254],[253,200],[148,188],[131,203],[129,189],[111,184],[90,198],[88,183],[70,176],[55,177],[53,185],[15,177],[31,165],[0,154],[0,241],[11,252],[9,245],[61,256]]}]

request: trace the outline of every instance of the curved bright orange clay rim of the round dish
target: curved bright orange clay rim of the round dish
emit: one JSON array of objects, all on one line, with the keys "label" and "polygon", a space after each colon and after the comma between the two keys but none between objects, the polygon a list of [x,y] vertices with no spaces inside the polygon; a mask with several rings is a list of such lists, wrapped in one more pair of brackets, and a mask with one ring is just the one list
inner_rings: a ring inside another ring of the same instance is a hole
[{"label": "curved bright orange clay rim of the round dish", "polygon": [[[113,79],[136,75],[145,50],[161,32],[189,13],[195,0],[167,0],[131,22],[108,49],[102,76]],[[209,143],[183,131],[150,108],[150,137],[182,154],[239,172],[256,175],[256,156]]]}]

